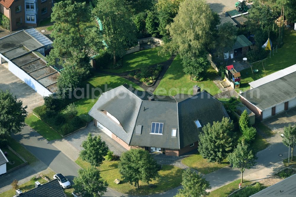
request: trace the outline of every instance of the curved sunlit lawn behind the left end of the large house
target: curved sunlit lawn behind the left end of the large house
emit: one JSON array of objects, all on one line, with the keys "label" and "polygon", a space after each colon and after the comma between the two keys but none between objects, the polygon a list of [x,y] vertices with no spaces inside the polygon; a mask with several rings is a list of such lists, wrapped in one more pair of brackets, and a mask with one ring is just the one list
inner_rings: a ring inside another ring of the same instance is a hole
[{"label": "curved sunlit lawn behind the left end of the large house", "polygon": [[[116,88],[123,84],[131,84],[133,88],[144,91],[141,87],[136,85],[135,83],[126,80],[122,77],[114,76],[114,75],[104,75],[100,73],[96,73],[93,77],[83,82],[83,87],[86,87],[86,84],[89,84],[89,93],[90,96],[87,98],[79,99],[75,101],[75,104],[78,106],[78,115],[87,114],[89,110],[94,106],[97,101],[97,97],[101,93],[104,93],[112,88]],[[96,88],[96,89],[94,89]],[[96,91],[92,91],[96,90]]]}]

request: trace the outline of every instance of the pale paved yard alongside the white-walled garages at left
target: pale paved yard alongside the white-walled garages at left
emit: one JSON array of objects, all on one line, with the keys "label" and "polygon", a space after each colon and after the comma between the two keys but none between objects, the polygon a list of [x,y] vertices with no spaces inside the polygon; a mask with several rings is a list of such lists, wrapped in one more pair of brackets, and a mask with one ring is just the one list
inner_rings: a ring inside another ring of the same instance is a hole
[{"label": "pale paved yard alongside the white-walled garages at left", "polygon": [[9,89],[18,100],[22,100],[23,106],[27,105],[27,112],[43,104],[43,97],[35,92],[30,86],[25,84],[17,76],[12,74],[0,64],[0,89],[5,91]]}]

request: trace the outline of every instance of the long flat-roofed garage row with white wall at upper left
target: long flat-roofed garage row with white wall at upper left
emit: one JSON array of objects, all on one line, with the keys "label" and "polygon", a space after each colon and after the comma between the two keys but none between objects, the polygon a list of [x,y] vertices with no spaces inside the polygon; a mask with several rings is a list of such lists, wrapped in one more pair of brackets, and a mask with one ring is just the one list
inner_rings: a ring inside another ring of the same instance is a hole
[{"label": "long flat-roofed garage row with white wall at upper left", "polygon": [[35,28],[0,38],[0,64],[41,96],[57,91],[59,72],[47,66],[45,53],[52,41]]}]

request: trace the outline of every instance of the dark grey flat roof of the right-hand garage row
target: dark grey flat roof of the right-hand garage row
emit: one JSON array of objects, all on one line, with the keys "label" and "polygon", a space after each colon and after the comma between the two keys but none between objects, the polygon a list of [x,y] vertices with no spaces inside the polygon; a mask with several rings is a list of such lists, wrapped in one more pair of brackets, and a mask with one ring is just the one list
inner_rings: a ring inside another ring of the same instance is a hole
[{"label": "dark grey flat roof of the right-hand garage row", "polygon": [[296,97],[296,72],[239,94],[260,110]]}]

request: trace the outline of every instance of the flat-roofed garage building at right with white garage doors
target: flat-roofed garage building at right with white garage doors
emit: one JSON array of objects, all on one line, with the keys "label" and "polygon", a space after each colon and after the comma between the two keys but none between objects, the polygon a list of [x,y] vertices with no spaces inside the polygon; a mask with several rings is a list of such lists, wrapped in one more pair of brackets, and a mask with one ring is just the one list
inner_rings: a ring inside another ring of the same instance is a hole
[{"label": "flat-roofed garage building at right with white garage doors", "polygon": [[[242,103],[260,120],[296,106],[295,65],[251,82],[251,89],[240,93]],[[288,74],[289,73],[289,74]]]}]

